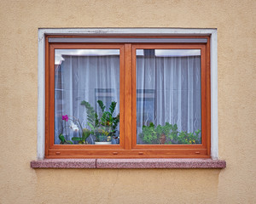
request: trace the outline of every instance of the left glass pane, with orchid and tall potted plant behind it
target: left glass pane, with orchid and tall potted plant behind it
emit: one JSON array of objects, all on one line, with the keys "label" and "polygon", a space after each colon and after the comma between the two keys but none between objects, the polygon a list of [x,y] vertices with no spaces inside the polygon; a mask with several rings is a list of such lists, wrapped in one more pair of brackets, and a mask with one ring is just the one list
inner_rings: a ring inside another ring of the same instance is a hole
[{"label": "left glass pane, with orchid and tall potted plant behind it", "polygon": [[119,49],[55,49],[55,144],[119,144]]}]

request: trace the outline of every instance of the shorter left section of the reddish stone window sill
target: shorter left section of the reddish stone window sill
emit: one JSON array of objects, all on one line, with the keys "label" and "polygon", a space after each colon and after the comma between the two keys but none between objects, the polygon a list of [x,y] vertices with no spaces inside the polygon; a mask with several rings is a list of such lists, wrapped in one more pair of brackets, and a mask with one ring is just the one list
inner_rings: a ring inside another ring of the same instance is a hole
[{"label": "shorter left section of the reddish stone window sill", "polygon": [[96,159],[44,159],[31,161],[32,168],[96,168]]}]

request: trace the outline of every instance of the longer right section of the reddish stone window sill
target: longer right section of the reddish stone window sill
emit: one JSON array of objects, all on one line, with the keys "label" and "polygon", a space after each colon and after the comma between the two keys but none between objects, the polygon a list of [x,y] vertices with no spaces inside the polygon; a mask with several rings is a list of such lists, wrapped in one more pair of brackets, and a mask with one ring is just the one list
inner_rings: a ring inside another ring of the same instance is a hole
[{"label": "longer right section of the reddish stone window sill", "polygon": [[96,168],[224,168],[212,159],[97,159]]}]

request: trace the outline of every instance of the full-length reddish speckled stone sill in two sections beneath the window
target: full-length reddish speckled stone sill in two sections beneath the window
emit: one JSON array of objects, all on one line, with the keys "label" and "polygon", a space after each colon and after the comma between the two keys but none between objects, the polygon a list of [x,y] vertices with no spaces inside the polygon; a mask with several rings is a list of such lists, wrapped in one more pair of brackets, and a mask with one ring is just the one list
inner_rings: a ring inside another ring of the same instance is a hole
[{"label": "full-length reddish speckled stone sill in two sections beneath the window", "polygon": [[44,159],[32,168],[224,168],[226,161],[212,159]]}]

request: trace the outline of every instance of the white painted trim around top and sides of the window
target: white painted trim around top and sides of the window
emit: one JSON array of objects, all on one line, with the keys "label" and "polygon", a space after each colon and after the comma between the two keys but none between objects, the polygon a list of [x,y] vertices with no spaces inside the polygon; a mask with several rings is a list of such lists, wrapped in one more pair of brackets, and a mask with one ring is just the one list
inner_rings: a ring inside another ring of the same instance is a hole
[{"label": "white painted trim around top and sides of the window", "polygon": [[218,159],[217,29],[190,28],[39,28],[38,29],[38,159],[44,159],[45,35],[211,36],[211,156]]}]

